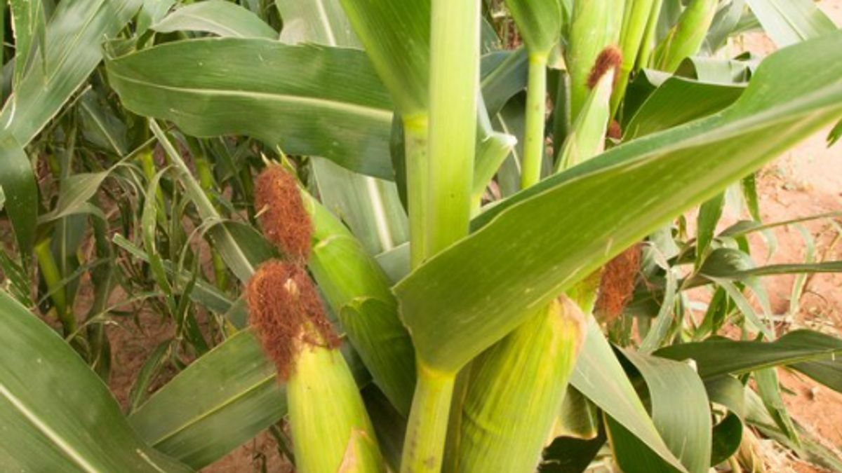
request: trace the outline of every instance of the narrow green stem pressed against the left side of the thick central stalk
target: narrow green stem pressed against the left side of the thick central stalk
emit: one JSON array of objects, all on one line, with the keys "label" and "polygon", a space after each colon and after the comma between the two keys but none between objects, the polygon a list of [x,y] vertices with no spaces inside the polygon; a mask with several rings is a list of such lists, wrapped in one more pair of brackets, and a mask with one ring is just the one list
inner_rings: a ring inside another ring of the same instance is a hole
[{"label": "narrow green stem pressed against the left side of the thick central stalk", "polygon": [[420,114],[403,118],[403,140],[407,160],[407,193],[409,200],[409,252],[413,268],[424,262],[427,254],[424,224],[428,207],[427,132],[429,117]]}]

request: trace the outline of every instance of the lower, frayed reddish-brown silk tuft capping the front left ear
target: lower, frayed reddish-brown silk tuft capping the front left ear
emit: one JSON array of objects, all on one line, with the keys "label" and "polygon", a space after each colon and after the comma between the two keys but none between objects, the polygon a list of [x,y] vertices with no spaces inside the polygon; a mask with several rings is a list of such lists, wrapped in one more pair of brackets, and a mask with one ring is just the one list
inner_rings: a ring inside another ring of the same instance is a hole
[{"label": "lower, frayed reddish-brown silk tuft capping the front left ear", "polygon": [[300,265],[277,260],[262,264],[248,281],[246,302],[249,322],[281,381],[289,379],[301,349],[339,346],[317,290]]}]

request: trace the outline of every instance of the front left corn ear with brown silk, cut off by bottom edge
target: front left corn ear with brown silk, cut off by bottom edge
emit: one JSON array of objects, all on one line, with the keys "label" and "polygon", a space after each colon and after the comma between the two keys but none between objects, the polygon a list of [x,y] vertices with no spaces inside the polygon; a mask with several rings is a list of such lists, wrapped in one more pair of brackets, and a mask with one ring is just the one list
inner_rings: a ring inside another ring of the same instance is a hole
[{"label": "front left corn ear with brown silk, cut off by bottom edge", "polygon": [[246,300],[264,351],[286,382],[297,470],[333,473],[349,463],[353,471],[385,471],[359,388],[306,270],[298,263],[264,263],[248,283]]}]

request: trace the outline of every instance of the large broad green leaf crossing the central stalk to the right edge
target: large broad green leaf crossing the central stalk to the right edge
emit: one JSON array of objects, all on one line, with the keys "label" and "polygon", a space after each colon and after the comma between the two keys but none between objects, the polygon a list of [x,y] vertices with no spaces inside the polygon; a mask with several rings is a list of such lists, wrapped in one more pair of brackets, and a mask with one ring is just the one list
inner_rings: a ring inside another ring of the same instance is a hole
[{"label": "large broad green leaf crossing the central stalk to the right edge", "polygon": [[488,210],[396,286],[418,356],[458,369],[674,215],[842,111],[842,32],[770,56],[732,107],[611,149]]}]

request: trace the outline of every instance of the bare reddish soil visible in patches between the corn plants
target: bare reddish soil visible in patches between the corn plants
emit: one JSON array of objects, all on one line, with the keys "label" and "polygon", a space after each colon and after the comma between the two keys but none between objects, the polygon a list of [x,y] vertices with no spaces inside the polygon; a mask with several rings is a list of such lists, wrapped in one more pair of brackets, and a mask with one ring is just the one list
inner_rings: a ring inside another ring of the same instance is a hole
[{"label": "bare reddish soil visible in patches between the corn plants", "polygon": [[[823,0],[820,8],[837,24],[842,25],[842,0]],[[775,49],[762,34],[745,35],[735,44],[738,49],[752,50],[759,55]],[[760,209],[766,222],[785,221],[824,212],[842,211],[842,143],[827,148],[825,138],[829,130],[787,152],[759,173]],[[842,259],[842,226],[829,221],[810,221],[803,224],[816,241],[816,255],[820,260]],[[777,247],[768,263],[802,263],[805,244],[794,227],[775,230]],[[755,239],[754,254],[765,254],[765,242]],[[770,302],[776,314],[787,314],[791,306],[791,287],[794,276],[765,279]],[[125,407],[135,375],[152,350],[172,334],[172,327],[150,314],[140,317],[141,328],[133,322],[121,322],[108,329],[113,350],[113,373],[110,387]],[[797,311],[783,320],[788,328],[809,327],[842,336],[842,274],[816,274],[807,279]],[[812,380],[781,369],[781,382],[790,393],[785,394],[786,406],[798,423],[806,426],[829,447],[842,449],[842,395],[817,385]],[[766,445],[766,444],[764,444]],[[781,454],[771,446],[768,450],[769,470],[798,473],[823,471],[807,465],[790,455]],[[253,441],[228,454],[205,473],[234,473],[258,471],[286,471],[274,439],[262,434]]]}]

